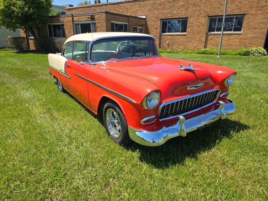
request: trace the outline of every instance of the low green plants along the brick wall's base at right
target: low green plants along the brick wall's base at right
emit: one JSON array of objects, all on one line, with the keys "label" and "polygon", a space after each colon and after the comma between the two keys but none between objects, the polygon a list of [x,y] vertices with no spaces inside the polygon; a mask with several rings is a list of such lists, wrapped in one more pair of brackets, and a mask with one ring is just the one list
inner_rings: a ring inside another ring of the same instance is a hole
[{"label": "low green plants along the brick wall's base at right", "polygon": [[[205,48],[201,50],[162,50],[160,53],[184,53],[184,54],[215,54],[217,55],[219,49]],[[240,55],[240,56],[265,56],[267,51],[262,47],[247,47],[240,50],[221,50],[221,55]]]}]

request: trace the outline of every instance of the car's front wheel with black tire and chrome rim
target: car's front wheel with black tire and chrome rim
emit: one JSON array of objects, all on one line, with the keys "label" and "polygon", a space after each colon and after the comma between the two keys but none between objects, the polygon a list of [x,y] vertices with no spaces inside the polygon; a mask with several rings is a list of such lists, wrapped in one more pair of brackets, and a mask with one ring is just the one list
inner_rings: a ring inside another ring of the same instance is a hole
[{"label": "car's front wheel with black tire and chrome rim", "polygon": [[132,140],[128,135],[128,124],[120,107],[114,101],[107,101],[103,107],[103,122],[114,142],[126,146]]}]

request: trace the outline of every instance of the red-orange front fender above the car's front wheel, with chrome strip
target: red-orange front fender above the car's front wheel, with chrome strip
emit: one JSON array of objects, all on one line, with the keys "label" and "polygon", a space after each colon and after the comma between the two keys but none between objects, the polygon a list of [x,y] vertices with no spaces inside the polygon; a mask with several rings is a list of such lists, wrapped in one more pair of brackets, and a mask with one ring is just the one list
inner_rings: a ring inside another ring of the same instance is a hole
[{"label": "red-orange front fender above the car's front wheel, with chrome strip", "polygon": [[148,80],[99,66],[90,68],[88,79],[92,81],[88,84],[88,94],[91,108],[95,113],[98,113],[99,104],[104,96],[115,101],[126,117],[136,121],[157,113],[156,109],[147,110],[142,105],[146,95],[159,90],[154,83]]}]

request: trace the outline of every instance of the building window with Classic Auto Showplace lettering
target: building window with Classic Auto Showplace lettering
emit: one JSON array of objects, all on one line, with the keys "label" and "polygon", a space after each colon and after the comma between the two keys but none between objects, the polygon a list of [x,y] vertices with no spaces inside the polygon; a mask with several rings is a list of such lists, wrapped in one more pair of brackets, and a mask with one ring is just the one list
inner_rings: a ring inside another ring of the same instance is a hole
[{"label": "building window with Classic Auto Showplace lettering", "polygon": [[[243,15],[227,16],[224,21],[224,32],[241,32],[244,22]],[[223,17],[209,17],[208,33],[219,33],[222,29]]]}]

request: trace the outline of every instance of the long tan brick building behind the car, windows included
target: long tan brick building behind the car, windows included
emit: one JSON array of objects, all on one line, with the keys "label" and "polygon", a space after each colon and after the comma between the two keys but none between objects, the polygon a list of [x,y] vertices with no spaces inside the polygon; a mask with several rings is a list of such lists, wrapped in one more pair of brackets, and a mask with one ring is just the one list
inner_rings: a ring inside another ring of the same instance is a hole
[{"label": "long tan brick building behind the car, windows included", "polygon": [[[50,17],[38,30],[44,38],[68,38],[85,32],[141,32],[154,36],[159,48],[218,48],[224,0],[122,0],[74,6]],[[267,48],[267,0],[229,0],[223,49]],[[25,36],[23,31],[21,34]],[[33,39],[29,39],[35,49]]]}]

